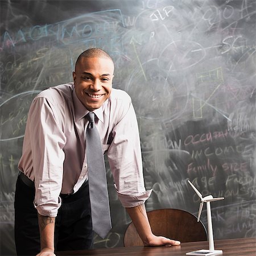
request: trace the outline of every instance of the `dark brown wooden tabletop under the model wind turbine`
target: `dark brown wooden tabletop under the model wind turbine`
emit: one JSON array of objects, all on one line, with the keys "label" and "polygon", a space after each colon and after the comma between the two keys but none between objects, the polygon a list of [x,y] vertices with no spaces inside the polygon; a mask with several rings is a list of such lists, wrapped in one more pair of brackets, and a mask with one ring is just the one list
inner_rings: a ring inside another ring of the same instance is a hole
[{"label": "dark brown wooden tabletop under the model wind turbine", "polygon": [[[101,256],[181,256],[188,251],[208,249],[208,241],[181,243],[179,246],[159,246],[159,247],[115,247],[110,249],[92,249],[79,251],[60,251],[59,255],[101,255]],[[214,241],[216,250],[222,250],[222,255],[244,256],[256,255],[256,238],[238,238],[230,240]]]}]

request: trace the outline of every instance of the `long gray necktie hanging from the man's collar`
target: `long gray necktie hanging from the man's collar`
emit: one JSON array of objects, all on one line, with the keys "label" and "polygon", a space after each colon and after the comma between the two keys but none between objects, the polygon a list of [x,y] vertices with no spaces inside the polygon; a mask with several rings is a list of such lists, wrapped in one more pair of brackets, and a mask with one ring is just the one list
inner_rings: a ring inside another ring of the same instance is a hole
[{"label": "long gray necktie hanging from the man's collar", "polygon": [[105,162],[100,135],[94,123],[95,114],[89,112],[86,118],[89,121],[86,129],[86,152],[92,224],[94,232],[104,238],[112,228]]}]

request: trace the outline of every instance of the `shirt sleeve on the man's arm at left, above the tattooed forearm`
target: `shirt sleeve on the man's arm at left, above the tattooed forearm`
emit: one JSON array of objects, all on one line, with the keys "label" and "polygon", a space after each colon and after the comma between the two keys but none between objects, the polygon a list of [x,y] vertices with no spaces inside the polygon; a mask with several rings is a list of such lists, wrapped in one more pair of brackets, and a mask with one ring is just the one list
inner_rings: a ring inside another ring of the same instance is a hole
[{"label": "shirt sleeve on the man's arm at left, above the tattooed forearm", "polygon": [[27,126],[35,175],[34,205],[39,214],[56,217],[61,205],[66,138],[53,114],[53,106],[43,97],[32,103]]}]

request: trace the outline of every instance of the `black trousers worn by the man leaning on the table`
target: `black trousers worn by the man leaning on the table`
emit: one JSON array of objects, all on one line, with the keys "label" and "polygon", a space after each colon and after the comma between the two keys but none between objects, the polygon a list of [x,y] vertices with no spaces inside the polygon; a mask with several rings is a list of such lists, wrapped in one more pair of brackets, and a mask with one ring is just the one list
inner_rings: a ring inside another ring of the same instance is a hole
[{"label": "black trousers worn by the man leaning on the table", "polygon": [[[15,191],[15,245],[17,255],[40,252],[38,212],[34,207],[35,188],[28,187],[18,176]],[[61,196],[55,219],[55,250],[83,250],[93,246],[92,219],[88,182],[75,194]]]}]

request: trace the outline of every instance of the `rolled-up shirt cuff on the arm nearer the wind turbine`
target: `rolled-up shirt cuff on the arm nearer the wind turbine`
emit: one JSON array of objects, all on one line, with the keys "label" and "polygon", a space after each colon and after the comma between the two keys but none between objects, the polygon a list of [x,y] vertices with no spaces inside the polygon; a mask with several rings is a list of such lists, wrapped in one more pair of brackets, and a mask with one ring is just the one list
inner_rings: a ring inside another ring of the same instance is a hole
[{"label": "rolled-up shirt cuff on the arm nearer the wind turbine", "polygon": [[[115,189],[117,186],[114,184]],[[117,190],[118,199],[121,201],[121,204],[125,208],[137,207],[138,205],[144,204],[145,201],[150,197],[152,189],[144,191],[144,192],[137,192],[137,193],[121,193]]]}]

